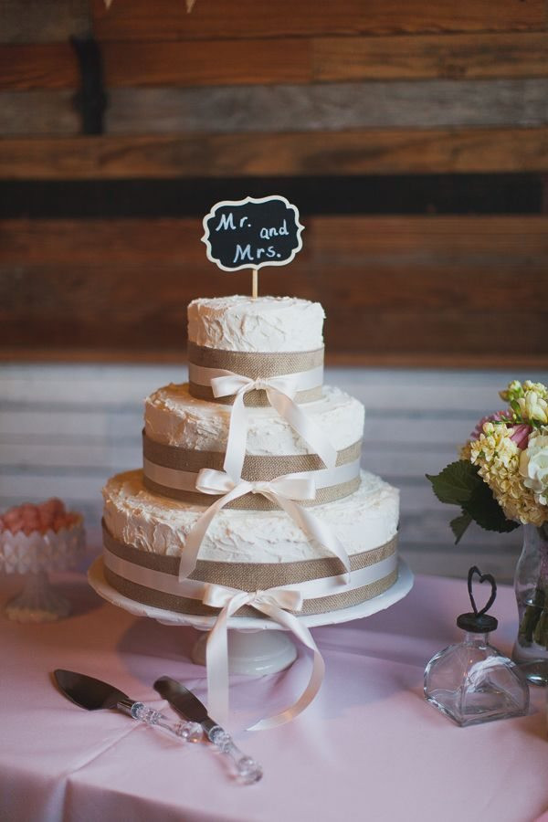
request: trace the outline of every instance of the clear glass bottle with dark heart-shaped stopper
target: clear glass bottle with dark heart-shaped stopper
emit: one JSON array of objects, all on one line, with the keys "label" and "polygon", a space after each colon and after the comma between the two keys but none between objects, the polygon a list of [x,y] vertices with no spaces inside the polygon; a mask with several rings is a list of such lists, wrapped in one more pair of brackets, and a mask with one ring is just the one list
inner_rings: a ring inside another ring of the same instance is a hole
[{"label": "clear glass bottle with dark heart-shaped stopper", "polygon": [[[490,597],[478,610],[472,591],[474,576],[489,582]],[[523,716],[529,711],[529,687],[522,671],[490,645],[490,631],[498,623],[487,611],[495,601],[497,585],[491,574],[470,568],[468,588],[472,611],[460,614],[463,642],[450,645],[430,659],[425,670],[425,696],[458,725],[474,725]]]}]

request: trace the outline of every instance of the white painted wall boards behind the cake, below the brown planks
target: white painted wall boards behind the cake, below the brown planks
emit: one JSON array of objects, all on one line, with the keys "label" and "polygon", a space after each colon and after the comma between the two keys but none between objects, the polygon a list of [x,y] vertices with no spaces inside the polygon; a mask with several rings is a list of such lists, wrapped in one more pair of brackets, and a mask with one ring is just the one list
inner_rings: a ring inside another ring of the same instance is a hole
[{"label": "white painted wall boards behind the cake, below the brown planks", "polygon": [[[140,466],[142,400],[160,385],[183,381],[183,364],[0,366],[0,510],[26,500],[62,497],[83,511],[98,544],[105,479]],[[426,473],[457,458],[480,416],[502,407],[497,392],[532,372],[329,369],[366,407],[364,467],[401,490],[401,548],[417,572],[464,576],[479,564],[510,580],[520,532],[470,528],[458,546]]]}]

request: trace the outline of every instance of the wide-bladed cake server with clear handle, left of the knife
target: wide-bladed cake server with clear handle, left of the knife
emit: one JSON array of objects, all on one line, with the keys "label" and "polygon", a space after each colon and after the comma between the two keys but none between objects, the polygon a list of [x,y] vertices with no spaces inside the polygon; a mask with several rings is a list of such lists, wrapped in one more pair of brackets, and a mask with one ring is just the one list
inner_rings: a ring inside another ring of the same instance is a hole
[{"label": "wide-bladed cake server with clear handle, left of the knife", "polygon": [[165,731],[170,731],[187,742],[199,742],[203,733],[196,722],[172,722],[160,711],[132,700],[123,690],[114,688],[108,682],[96,680],[87,674],[80,674],[74,670],[58,668],[53,676],[58,689],[68,700],[85,708],[87,711],[99,711],[101,708],[114,708],[121,713],[127,713],[132,719],[144,722],[146,725],[158,725]]}]

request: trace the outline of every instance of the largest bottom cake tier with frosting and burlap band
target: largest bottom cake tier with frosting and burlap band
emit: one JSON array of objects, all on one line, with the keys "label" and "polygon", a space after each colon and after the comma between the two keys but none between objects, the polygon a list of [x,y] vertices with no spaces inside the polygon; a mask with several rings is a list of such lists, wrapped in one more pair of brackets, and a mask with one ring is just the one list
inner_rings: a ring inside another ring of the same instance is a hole
[{"label": "largest bottom cake tier with frosting and burlap band", "polygon": [[[142,471],[111,478],[103,495],[105,577],[121,594],[149,606],[215,615],[218,609],[201,601],[201,584],[248,592],[282,587],[301,593],[300,614],[319,614],[372,599],[397,579],[398,491],[365,471],[353,494],[308,509],[350,557],[350,582],[336,586],[329,581],[340,578],[341,561],[285,511],[227,509],[216,514],[195,571],[180,583],[186,536],[205,508],[152,494]],[[198,593],[189,596],[189,585]],[[250,606],[237,612],[250,614],[256,614]]]}]

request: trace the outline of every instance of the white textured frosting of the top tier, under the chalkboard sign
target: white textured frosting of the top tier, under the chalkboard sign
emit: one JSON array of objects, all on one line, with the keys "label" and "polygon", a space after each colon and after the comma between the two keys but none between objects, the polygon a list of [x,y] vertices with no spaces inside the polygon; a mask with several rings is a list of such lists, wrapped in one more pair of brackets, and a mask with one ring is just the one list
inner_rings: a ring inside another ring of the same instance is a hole
[{"label": "white textured frosting of the top tier, under the chalkboard sign", "polygon": [[296,297],[215,297],[188,306],[188,339],[222,351],[314,351],[323,345],[319,302]]}]

